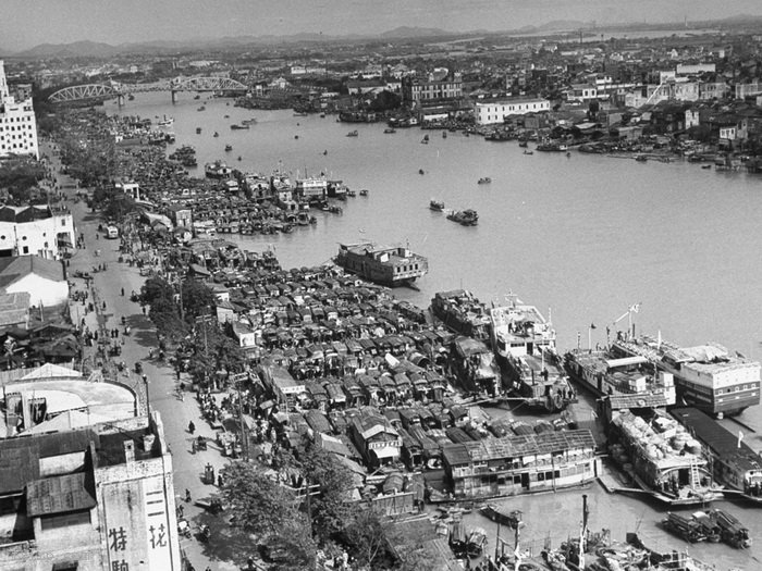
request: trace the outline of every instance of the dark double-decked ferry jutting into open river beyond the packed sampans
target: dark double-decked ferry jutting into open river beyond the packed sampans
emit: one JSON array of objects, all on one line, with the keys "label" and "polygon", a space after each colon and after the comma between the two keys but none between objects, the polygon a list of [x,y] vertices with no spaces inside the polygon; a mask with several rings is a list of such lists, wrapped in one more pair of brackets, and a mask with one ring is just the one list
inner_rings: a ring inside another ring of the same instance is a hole
[{"label": "dark double-decked ferry jutting into open river beyond the packed sampans", "polygon": [[408,247],[380,247],[370,243],[340,244],[337,265],[380,285],[408,285],[429,271],[429,260]]}]

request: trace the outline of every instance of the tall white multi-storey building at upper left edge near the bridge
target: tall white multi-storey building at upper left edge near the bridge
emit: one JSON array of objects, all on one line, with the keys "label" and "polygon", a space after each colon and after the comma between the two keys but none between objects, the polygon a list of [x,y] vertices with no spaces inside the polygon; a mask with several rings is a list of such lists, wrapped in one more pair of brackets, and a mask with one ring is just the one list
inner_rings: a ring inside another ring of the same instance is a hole
[{"label": "tall white multi-storey building at upper left edge near the bridge", "polygon": [[11,96],[0,60],[0,159],[10,154],[39,157],[37,121],[32,98],[16,101]]}]

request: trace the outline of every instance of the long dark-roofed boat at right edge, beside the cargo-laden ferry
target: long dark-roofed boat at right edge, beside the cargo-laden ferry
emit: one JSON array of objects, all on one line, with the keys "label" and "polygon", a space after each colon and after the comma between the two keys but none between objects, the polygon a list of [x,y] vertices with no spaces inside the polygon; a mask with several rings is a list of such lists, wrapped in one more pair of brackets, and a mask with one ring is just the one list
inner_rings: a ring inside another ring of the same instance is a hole
[{"label": "long dark-roofed boat at right edge, beside the cargo-laden ferry", "polygon": [[705,447],[712,458],[714,477],[725,486],[725,494],[762,504],[762,457],[743,442],[742,434],[734,434],[705,412],[693,407],[669,410]]}]

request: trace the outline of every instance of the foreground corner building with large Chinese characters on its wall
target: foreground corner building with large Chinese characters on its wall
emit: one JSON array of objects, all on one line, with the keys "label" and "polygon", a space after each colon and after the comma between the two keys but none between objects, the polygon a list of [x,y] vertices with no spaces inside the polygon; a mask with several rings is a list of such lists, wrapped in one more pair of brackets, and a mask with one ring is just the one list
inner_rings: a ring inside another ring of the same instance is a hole
[{"label": "foreground corner building with large Chinese characters on its wall", "polygon": [[157,412],[0,440],[0,569],[182,569]]}]

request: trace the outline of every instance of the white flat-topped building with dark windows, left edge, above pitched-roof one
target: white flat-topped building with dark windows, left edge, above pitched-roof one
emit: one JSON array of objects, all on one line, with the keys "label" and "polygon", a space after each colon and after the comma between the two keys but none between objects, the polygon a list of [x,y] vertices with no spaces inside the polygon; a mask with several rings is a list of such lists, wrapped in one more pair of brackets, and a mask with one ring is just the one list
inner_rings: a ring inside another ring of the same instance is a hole
[{"label": "white flat-topped building with dark windows, left edge, above pitched-roof one", "polygon": [[0,258],[34,255],[58,260],[76,240],[67,210],[48,206],[0,208]]}]

